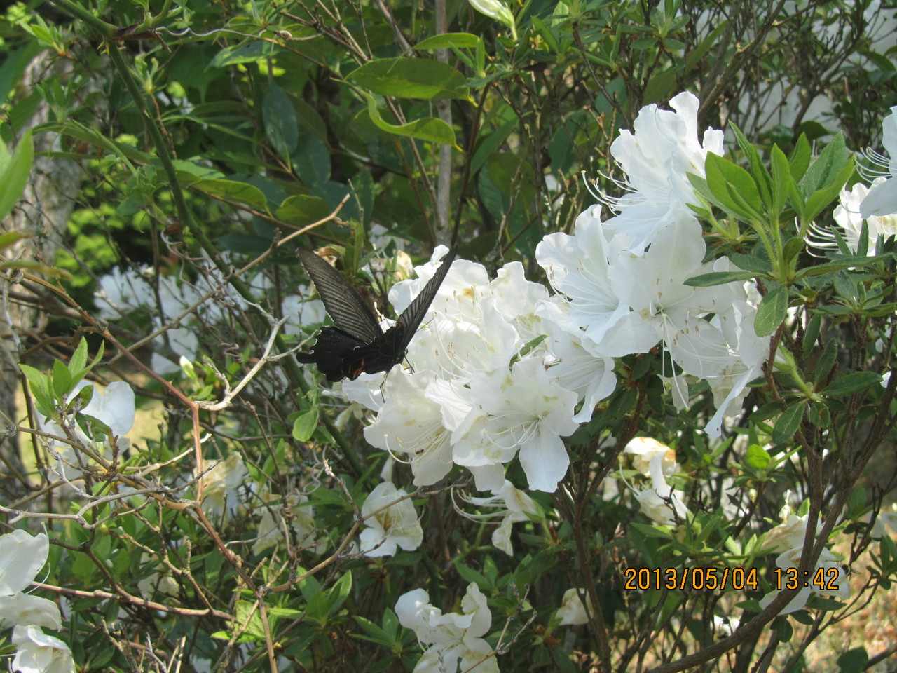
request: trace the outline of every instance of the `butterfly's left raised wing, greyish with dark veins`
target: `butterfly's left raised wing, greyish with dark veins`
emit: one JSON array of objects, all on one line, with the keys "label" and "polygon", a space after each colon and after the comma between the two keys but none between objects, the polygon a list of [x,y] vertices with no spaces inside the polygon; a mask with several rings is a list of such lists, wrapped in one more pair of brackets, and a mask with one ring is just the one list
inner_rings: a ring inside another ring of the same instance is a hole
[{"label": "butterfly's left raised wing, greyish with dark veins", "polygon": [[383,335],[374,311],[334,267],[311,250],[300,249],[299,258],[306,273],[315,282],[327,315],[337,328],[345,335],[358,339],[361,345],[370,344]]}]

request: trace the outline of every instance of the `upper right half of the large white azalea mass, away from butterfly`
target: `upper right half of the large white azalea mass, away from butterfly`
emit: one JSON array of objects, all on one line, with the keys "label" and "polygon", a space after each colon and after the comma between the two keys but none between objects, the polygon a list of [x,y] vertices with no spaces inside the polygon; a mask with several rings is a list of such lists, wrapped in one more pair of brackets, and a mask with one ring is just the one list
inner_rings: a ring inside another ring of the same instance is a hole
[{"label": "upper right half of the large white azalea mass, away from butterfly", "polygon": [[[768,338],[753,329],[755,307],[742,284],[691,287],[695,275],[730,270],[727,260],[703,264],[701,224],[688,173],[703,177],[707,153],[723,152],[721,131],[698,140],[698,99],[680,93],[670,106],[641,109],[634,133],[623,130],[611,153],[631,192],[580,214],[574,235],[553,233],[536,249],[556,294],[537,312],[595,358],[647,353],[662,343],[686,374],[707,380],[717,414],[705,430],[721,433],[745,386],[762,371]],[[671,372],[672,374],[672,372]],[[684,402],[684,380],[676,380]],[[589,409],[589,412],[591,410]]]}]

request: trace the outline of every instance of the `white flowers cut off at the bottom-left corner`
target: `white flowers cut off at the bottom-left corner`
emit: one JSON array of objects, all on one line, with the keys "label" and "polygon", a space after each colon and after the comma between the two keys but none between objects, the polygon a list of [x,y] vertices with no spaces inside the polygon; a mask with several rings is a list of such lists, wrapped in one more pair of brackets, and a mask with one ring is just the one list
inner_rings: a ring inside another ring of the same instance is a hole
[{"label": "white flowers cut off at the bottom-left corner", "polygon": [[74,673],[68,645],[41,628],[62,628],[59,607],[51,600],[25,593],[47,563],[48,554],[49,541],[44,533],[32,536],[24,530],[13,530],[0,536],[0,618],[14,625],[13,670],[20,673]]}]

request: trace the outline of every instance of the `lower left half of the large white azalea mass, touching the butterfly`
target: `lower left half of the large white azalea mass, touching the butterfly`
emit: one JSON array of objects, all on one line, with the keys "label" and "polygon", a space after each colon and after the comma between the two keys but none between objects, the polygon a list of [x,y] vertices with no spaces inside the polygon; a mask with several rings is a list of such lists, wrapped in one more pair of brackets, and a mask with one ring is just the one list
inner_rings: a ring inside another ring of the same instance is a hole
[{"label": "lower left half of the large white azalea mass, touching the butterfly", "polygon": [[[389,299],[401,312],[435,272],[396,284]],[[544,334],[536,316],[547,293],[511,263],[490,281],[486,269],[457,259],[431,304],[407,359],[413,370],[344,382],[350,398],[378,412],[364,435],[406,459],[414,485],[431,485],[453,464],[468,468],[480,490],[501,489],[503,464],[519,455],[530,488],[553,491],[570,463],[561,437],[577,428],[581,398],[546,371],[544,346],[521,354]],[[604,373],[604,372],[603,372]],[[613,380],[605,395],[613,390]]]}]

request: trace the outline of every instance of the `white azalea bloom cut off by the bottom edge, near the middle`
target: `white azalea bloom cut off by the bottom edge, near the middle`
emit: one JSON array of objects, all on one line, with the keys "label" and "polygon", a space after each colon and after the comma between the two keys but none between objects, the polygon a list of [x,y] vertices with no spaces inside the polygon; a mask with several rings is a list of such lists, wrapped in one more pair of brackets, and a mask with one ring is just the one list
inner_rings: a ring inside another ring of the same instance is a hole
[{"label": "white azalea bloom cut off by the bottom edge, near the middle", "polygon": [[430,604],[430,595],[422,589],[408,591],[396,601],[396,616],[405,628],[417,634],[417,640],[429,647],[414,667],[414,673],[455,673],[471,670],[482,660],[475,673],[499,673],[492,647],[481,636],[492,625],[492,613],[486,598],[474,582],[461,599],[461,614]]}]

